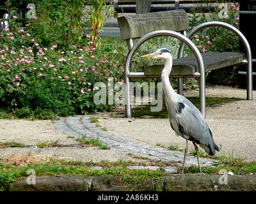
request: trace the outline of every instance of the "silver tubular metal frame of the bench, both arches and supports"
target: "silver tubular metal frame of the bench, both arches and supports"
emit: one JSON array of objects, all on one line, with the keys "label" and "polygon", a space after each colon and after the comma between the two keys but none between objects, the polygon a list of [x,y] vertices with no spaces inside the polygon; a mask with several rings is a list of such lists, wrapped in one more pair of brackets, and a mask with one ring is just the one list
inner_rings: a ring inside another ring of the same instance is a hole
[{"label": "silver tubular metal frame of the bench, both arches and supports", "polygon": [[[225,22],[206,22],[204,24],[200,24],[196,27],[194,27],[188,35],[186,35],[186,31],[181,31],[182,34],[176,32],[176,31],[169,31],[169,30],[159,30],[159,31],[152,31],[148,34],[145,34],[142,36],[136,43],[133,44],[132,38],[126,40],[127,45],[129,48],[129,53],[127,55],[126,61],[125,61],[125,115],[126,117],[131,117],[131,87],[129,85],[129,78],[148,78],[148,76],[145,76],[144,72],[131,72],[131,60],[136,52],[136,50],[140,47],[142,43],[149,40],[150,38],[154,38],[156,36],[172,36],[174,38],[177,38],[182,41],[182,45],[179,48],[179,54],[178,57],[183,57],[184,54],[184,47],[186,45],[193,50],[196,61],[198,62],[198,68],[199,73],[196,72],[194,76],[191,77],[200,77],[200,112],[205,117],[205,68],[204,68],[204,61],[202,58],[202,55],[196,45],[189,39],[191,36],[193,36],[196,32],[200,31],[201,29],[204,29],[205,27],[212,27],[212,26],[219,26],[219,27],[225,27],[226,29],[229,29],[230,31],[237,34],[239,39],[242,41],[244,48],[246,50],[246,57],[243,61],[243,64],[246,64],[247,66],[247,99],[252,99],[252,53],[250,49],[250,45],[244,35],[236,29],[236,27],[227,24]],[[160,77],[160,76],[159,76]],[[183,94],[183,78],[188,78],[187,76],[184,76],[182,78],[179,78],[179,94]]]}]

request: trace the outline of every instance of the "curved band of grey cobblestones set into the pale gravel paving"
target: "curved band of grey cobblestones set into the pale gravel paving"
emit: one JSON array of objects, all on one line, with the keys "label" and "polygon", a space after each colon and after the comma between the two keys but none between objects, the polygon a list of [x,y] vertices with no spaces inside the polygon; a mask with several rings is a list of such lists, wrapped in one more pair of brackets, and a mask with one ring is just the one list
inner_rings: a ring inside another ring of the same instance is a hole
[{"label": "curved band of grey cobblestones set into the pale gravel paving", "polygon": [[[127,138],[121,138],[111,135],[102,129],[95,127],[95,123],[90,122],[92,115],[67,117],[57,120],[54,124],[56,129],[65,133],[65,135],[79,138],[81,135],[86,135],[88,138],[99,138],[102,143],[105,143],[111,150],[116,150],[125,154],[132,153],[137,156],[147,157],[154,161],[171,161],[182,163],[184,154],[177,151],[170,151],[161,147],[153,147],[143,143],[133,142]],[[210,166],[212,162],[209,159],[201,158],[202,166]],[[197,165],[196,157],[188,156],[186,165]]]}]

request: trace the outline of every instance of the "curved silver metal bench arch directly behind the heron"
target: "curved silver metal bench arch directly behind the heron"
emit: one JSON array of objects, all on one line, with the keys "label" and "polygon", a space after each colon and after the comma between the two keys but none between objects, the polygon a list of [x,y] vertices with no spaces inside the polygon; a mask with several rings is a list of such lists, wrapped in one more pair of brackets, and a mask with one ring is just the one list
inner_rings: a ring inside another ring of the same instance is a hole
[{"label": "curved silver metal bench arch directly behind the heron", "polygon": [[174,38],[177,38],[181,41],[183,41],[186,45],[188,45],[191,50],[193,50],[196,60],[198,61],[198,67],[200,71],[200,111],[205,117],[205,69],[204,69],[204,61],[202,58],[202,55],[196,45],[189,40],[189,38],[186,38],[186,36],[177,33],[175,31],[168,31],[168,30],[160,30],[160,31],[153,31],[148,34],[145,34],[142,36],[134,45],[132,46],[131,50],[129,51],[126,61],[125,61],[125,106],[126,106],[126,116],[131,117],[131,108],[129,105],[131,105],[130,97],[127,96],[127,94],[130,94],[130,86],[129,86],[129,77],[130,75],[130,67],[131,67],[131,59],[136,52],[136,50],[140,47],[142,43],[145,41],[154,38],[156,36],[171,36]]}]

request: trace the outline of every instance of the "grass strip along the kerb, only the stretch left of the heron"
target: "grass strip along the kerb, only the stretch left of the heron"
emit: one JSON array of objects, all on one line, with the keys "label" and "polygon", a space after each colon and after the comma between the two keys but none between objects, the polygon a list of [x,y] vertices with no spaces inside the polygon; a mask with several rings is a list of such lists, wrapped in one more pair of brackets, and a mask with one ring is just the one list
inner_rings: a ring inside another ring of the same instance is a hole
[{"label": "grass strip along the kerb, only the stretch left of the heron", "polygon": [[[132,161],[123,161],[120,159],[116,163],[109,163],[108,161],[100,161],[100,163],[83,163],[77,161],[63,161],[58,159],[51,159],[42,164],[29,164],[28,166],[21,166],[6,169],[0,169],[0,187],[1,191],[6,191],[8,186],[15,180],[26,179],[29,175],[26,173],[28,169],[35,170],[36,177],[56,177],[56,176],[108,176],[120,177],[127,186],[140,185],[147,182],[148,179],[160,180],[163,175],[166,175],[163,170],[134,170],[127,166],[134,164]],[[0,165],[4,165],[0,161]],[[103,169],[95,170],[88,168],[89,166],[104,166]]]}]

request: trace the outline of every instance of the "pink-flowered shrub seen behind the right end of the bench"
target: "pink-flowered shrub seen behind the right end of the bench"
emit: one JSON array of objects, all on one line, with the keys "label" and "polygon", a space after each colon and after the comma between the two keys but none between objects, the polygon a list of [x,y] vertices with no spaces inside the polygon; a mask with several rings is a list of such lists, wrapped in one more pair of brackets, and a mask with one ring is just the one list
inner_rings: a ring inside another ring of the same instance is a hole
[{"label": "pink-flowered shrub seen behind the right end of the bench", "polygon": [[[221,6],[221,4],[220,4]],[[193,16],[189,22],[191,26],[202,24],[208,21],[222,21],[227,22],[239,29],[239,6],[237,4],[222,4],[222,7],[214,12],[209,11],[209,16],[196,15],[195,11],[192,12]],[[221,13],[222,12],[222,13]],[[220,15],[221,14],[221,15]],[[209,27],[196,34],[192,40],[197,45],[200,52],[238,52],[239,51],[239,38],[236,34],[223,27]],[[189,52],[189,51],[188,51]],[[225,84],[236,85],[237,82],[237,67],[230,67],[224,69],[217,69],[209,71],[206,75],[206,82],[210,84]]]}]

